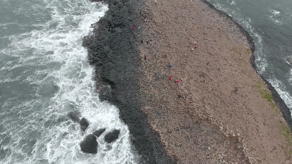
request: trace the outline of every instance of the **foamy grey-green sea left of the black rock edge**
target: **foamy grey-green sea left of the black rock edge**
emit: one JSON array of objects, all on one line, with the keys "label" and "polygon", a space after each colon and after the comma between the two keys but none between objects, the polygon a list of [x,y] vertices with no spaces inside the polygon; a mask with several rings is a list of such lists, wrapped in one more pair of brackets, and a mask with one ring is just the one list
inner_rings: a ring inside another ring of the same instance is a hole
[{"label": "foamy grey-green sea left of the black rock edge", "polygon": [[[0,164],[133,164],[119,110],[100,102],[82,38],[107,6],[90,0],[0,0]],[[67,114],[90,121],[81,132]],[[80,142],[106,128],[96,155]],[[106,144],[104,134],[120,129]]]}]

